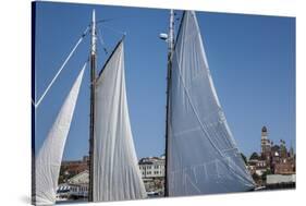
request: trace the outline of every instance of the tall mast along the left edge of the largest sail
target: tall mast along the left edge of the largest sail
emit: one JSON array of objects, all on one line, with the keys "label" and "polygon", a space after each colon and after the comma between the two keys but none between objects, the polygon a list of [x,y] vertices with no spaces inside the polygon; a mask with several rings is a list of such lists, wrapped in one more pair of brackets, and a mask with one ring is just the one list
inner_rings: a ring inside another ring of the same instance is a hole
[{"label": "tall mast along the left edge of the largest sail", "polygon": [[172,53],[174,49],[174,12],[170,10],[169,34],[168,34],[168,70],[167,70],[167,106],[166,106],[166,167],[164,167],[164,196],[169,196],[168,186],[168,152],[169,152],[169,89],[171,84]]}]

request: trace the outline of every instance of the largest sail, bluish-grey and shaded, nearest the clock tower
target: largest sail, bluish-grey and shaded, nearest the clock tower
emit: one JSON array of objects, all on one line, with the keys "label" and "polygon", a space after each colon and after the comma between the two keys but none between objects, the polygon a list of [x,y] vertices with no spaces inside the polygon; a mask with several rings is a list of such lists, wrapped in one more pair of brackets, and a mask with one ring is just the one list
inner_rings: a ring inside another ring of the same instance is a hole
[{"label": "largest sail, bluish-grey and shaded, nearest the clock tower", "polygon": [[254,187],[217,97],[195,12],[184,12],[172,57],[169,196]]}]

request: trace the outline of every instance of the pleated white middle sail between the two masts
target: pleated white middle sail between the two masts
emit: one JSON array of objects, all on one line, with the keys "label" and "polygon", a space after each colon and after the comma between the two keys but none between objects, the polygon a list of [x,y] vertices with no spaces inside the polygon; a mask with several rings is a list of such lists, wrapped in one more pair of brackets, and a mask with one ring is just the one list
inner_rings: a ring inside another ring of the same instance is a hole
[{"label": "pleated white middle sail between the two masts", "polygon": [[130,125],[120,41],[96,82],[93,199],[146,197]]}]

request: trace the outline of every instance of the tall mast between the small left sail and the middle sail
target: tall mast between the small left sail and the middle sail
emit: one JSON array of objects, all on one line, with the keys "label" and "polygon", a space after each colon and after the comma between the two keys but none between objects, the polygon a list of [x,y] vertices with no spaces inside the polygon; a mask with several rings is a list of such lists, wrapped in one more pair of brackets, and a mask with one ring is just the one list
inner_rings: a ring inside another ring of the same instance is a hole
[{"label": "tall mast between the small left sail and the middle sail", "polygon": [[93,185],[94,185],[94,134],[95,134],[95,82],[96,82],[96,12],[93,11],[91,20],[91,49],[90,49],[90,128],[89,128],[89,190],[88,201],[93,202]]}]

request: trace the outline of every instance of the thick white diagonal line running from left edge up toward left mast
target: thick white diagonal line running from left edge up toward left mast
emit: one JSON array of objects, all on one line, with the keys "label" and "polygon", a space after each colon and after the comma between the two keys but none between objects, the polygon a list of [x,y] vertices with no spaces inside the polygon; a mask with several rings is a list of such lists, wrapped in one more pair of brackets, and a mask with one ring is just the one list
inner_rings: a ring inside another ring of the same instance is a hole
[{"label": "thick white diagonal line running from left edge up toward left mast", "polygon": [[84,39],[84,37],[87,35],[89,31],[89,26],[86,27],[86,29],[83,32],[82,36],[79,37],[79,39],[77,40],[77,43],[75,44],[75,46],[73,47],[73,49],[70,51],[68,58],[64,60],[64,62],[62,63],[61,68],[59,69],[58,73],[56,74],[56,76],[53,77],[53,80],[50,82],[50,84],[48,85],[48,87],[46,88],[46,90],[44,92],[44,94],[40,96],[39,100],[35,104],[34,106],[35,108],[37,108],[40,102],[42,101],[44,97],[47,95],[48,90],[51,88],[51,86],[53,85],[53,83],[56,82],[56,80],[58,78],[58,76],[60,75],[60,73],[62,72],[62,70],[64,69],[65,64],[68,63],[68,61],[70,60],[70,58],[72,57],[72,54],[74,53],[74,51],[76,50],[76,48],[78,47],[78,45],[82,43],[82,40]]}]

